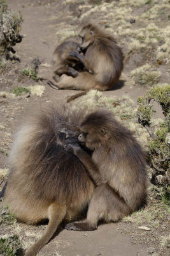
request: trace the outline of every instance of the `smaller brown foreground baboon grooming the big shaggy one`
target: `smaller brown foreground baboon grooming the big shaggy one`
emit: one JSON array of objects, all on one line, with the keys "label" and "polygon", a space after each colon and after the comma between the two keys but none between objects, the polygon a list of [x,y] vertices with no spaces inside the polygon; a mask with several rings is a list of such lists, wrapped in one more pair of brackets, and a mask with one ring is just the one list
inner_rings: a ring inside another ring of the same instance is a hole
[{"label": "smaller brown foreground baboon grooming the big shaggy one", "polygon": [[78,156],[97,187],[87,220],[67,224],[66,228],[94,230],[99,220],[118,221],[136,211],[146,196],[146,164],[132,132],[110,111],[98,110],[82,122],[78,140],[92,150],[92,157],[76,145],[68,145],[67,150]]}]

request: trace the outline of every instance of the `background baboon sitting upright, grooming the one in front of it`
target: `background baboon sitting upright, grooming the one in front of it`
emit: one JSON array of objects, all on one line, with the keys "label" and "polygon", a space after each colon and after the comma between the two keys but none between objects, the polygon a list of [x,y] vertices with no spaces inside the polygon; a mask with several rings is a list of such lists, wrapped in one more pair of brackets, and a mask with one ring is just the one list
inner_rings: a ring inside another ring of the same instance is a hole
[{"label": "background baboon sitting upright, grooming the one in front of it", "polygon": [[106,31],[88,24],[80,32],[82,39],[80,50],[71,51],[70,56],[80,61],[89,72],[81,72],[76,77],[63,75],[59,83],[55,84],[59,89],[76,89],[100,91],[112,88],[118,81],[123,69],[123,54],[115,39]]}]

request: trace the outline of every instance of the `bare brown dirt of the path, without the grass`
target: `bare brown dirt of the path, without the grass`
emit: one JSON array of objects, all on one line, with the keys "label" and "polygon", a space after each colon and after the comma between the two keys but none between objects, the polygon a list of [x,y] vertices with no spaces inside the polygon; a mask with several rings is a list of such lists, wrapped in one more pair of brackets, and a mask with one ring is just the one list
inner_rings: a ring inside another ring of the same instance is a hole
[{"label": "bare brown dirt of the path, without the grass", "polygon": [[[69,2],[69,4],[64,4],[62,1],[7,1],[8,7],[11,10],[15,10],[16,12],[20,10],[22,15],[24,15],[25,21],[22,25],[21,35],[26,35],[26,37],[22,40],[22,43],[15,47],[17,56],[20,58],[21,62],[9,67],[6,77],[4,76],[3,79],[0,80],[0,91],[10,93],[13,92],[15,86],[22,86],[23,84],[24,86],[39,84],[45,86],[45,90],[41,97],[31,95],[31,97],[28,98],[25,96],[10,99],[3,98],[4,101],[0,102],[1,124],[6,125],[6,140],[4,140],[3,131],[0,129],[1,145],[4,145],[5,149],[4,152],[0,154],[0,168],[8,168],[7,155],[10,150],[9,143],[12,141],[13,132],[22,119],[22,116],[25,115],[25,112],[36,111],[36,108],[41,108],[41,106],[48,104],[48,102],[57,103],[58,100],[64,101],[68,95],[76,93],[73,90],[53,90],[48,87],[46,80],[34,82],[28,77],[23,79],[19,76],[20,69],[22,70],[24,67],[27,67],[33,58],[39,57],[41,60],[39,76],[44,79],[51,79],[52,72],[50,70],[50,61],[52,53],[55,46],[63,39],[57,31],[61,28],[66,31],[67,26],[69,26],[69,28],[73,27],[75,34],[80,30],[77,20],[73,19],[74,16],[80,15],[77,1],[75,1],[75,3],[74,1],[72,1],[73,3],[71,3],[71,1],[65,2]],[[96,22],[98,22],[99,17],[95,17],[94,15],[93,21],[95,21],[95,19]],[[122,46],[124,51],[126,51],[126,47],[124,45]],[[127,73],[124,73],[125,76],[133,65],[138,67],[140,61],[144,61],[143,59],[141,60],[140,54],[139,56],[131,58],[131,60],[125,60],[125,70],[127,70]],[[15,72],[16,77],[13,76],[12,72]],[[123,94],[127,94],[136,102],[137,98],[143,96],[145,92],[145,88],[131,86],[127,81],[127,83],[120,83],[115,90],[104,92],[103,95],[115,95],[120,97]],[[157,115],[159,115],[159,109],[157,110]],[[1,184],[1,186],[3,186],[3,184]],[[37,237],[33,235],[28,236],[28,234],[25,235],[25,232],[29,230],[30,232],[35,232],[36,234],[38,232],[38,234],[41,234],[45,229],[45,226],[41,225],[38,227],[29,227],[24,224],[18,224],[18,227],[20,228],[24,243],[26,240],[28,241],[27,244],[29,244],[30,239],[31,242],[33,242]],[[129,230],[132,230],[133,236]],[[1,228],[0,231],[4,235],[4,231]],[[152,243],[146,243],[145,240],[143,240],[146,233],[147,231],[144,230],[138,231],[131,223],[127,224],[123,222],[99,225],[98,229],[93,232],[61,230],[59,234],[53,237],[50,243],[44,246],[38,255],[146,256],[152,254],[148,252],[148,248],[152,246]]]}]

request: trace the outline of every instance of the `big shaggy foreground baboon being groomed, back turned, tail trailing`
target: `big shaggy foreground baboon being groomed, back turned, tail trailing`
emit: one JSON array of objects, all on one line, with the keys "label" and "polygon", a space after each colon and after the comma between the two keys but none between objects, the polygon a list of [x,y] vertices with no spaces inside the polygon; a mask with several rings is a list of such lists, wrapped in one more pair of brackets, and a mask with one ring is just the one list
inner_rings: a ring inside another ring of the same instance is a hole
[{"label": "big shaggy foreground baboon being groomed, back turned, tail trailing", "polygon": [[36,255],[61,221],[75,220],[92,198],[94,183],[85,167],[64,150],[65,144],[78,143],[76,125],[83,113],[51,108],[27,120],[15,137],[4,204],[27,224],[49,220],[45,234],[25,256]]}]

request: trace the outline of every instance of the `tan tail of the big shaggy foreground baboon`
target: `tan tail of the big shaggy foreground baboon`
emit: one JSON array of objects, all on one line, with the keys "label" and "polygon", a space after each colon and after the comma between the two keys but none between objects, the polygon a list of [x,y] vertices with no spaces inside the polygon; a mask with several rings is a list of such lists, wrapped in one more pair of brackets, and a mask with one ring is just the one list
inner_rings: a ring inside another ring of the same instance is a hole
[{"label": "tan tail of the big shaggy foreground baboon", "polygon": [[34,256],[39,250],[52,238],[62,220],[66,215],[66,207],[59,207],[59,205],[50,205],[48,208],[49,223],[46,227],[45,234],[34,243],[31,248],[25,252],[25,256]]}]

